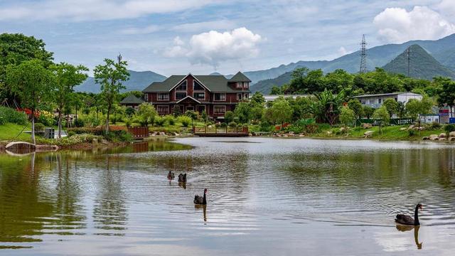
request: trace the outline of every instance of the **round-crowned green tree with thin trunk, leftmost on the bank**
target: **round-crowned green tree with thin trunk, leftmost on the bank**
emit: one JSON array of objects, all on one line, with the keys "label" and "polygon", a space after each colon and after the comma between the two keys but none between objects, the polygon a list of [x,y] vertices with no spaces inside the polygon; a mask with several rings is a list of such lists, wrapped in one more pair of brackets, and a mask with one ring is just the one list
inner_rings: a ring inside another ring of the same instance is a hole
[{"label": "round-crowned green tree with thin trunk, leftmost on the bank", "polygon": [[6,82],[21,99],[22,107],[31,110],[31,140],[35,139],[35,114],[38,104],[52,95],[55,87],[53,73],[45,69],[41,60],[26,60],[6,68]]}]

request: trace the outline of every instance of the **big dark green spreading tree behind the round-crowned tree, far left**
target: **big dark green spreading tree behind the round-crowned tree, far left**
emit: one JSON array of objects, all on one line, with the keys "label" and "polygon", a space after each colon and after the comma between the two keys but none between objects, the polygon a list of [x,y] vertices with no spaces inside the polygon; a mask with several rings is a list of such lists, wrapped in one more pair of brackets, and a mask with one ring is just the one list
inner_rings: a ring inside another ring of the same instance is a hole
[{"label": "big dark green spreading tree behind the round-crowned tree, far left", "polygon": [[45,50],[43,40],[21,33],[0,34],[0,99],[14,98],[14,91],[6,82],[6,69],[9,65],[20,65],[26,60],[41,60],[47,68],[52,64],[53,53]]}]

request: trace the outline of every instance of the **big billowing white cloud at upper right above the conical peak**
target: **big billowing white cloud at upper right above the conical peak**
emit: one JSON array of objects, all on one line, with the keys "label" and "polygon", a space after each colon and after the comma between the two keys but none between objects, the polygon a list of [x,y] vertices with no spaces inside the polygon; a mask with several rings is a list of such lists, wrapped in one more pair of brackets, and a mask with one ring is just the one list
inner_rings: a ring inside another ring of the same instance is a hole
[{"label": "big billowing white cloud at upper right above the conical peak", "polygon": [[414,6],[412,11],[387,8],[375,16],[381,41],[403,43],[411,40],[439,39],[455,33],[455,24],[426,6]]}]

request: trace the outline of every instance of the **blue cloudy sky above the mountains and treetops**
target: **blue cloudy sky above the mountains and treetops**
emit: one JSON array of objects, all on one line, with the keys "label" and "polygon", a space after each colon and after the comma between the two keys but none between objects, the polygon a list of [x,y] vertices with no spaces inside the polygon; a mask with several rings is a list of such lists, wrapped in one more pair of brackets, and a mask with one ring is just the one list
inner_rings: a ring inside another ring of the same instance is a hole
[{"label": "blue cloudy sky above the mountains and treetops", "polygon": [[56,61],[122,53],[163,75],[262,70],[455,33],[455,0],[0,0],[0,33],[42,38]]}]

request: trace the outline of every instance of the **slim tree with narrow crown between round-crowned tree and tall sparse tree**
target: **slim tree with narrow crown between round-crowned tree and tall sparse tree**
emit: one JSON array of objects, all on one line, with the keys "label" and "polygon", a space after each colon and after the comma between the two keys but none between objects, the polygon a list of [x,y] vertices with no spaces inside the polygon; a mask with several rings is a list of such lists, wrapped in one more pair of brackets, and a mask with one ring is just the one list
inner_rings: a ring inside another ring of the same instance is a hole
[{"label": "slim tree with narrow crown between round-crowned tree and tall sparse tree", "polygon": [[[80,85],[87,79],[88,75],[83,72],[88,71],[88,68],[83,65],[74,66],[68,63],[60,63],[57,65],[51,65],[50,70],[55,75],[55,103],[57,104],[58,111],[58,138],[61,139],[63,109],[66,105],[68,105],[70,100],[74,99],[74,87],[76,85]],[[77,107],[79,107],[79,105],[77,105]]]}]

